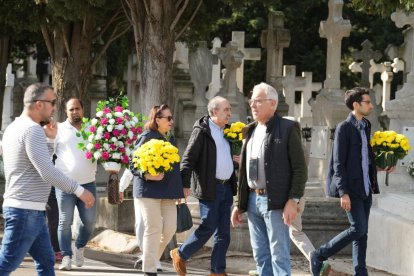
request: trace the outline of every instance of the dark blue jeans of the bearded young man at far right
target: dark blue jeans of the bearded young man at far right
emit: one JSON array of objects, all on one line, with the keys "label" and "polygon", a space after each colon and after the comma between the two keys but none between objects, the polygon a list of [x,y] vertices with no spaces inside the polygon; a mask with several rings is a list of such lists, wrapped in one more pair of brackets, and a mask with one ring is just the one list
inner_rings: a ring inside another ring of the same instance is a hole
[{"label": "dark blue jeans of the bearded young man at far right", "polygon": [[347,212],[351,226],[316,250],[316,257],[324,261],[352,242],[352,263],[355,275],[368,275],[365,259],[367,253],[368,219],[372,195],[361,199],[351,197],[351,211]]}]

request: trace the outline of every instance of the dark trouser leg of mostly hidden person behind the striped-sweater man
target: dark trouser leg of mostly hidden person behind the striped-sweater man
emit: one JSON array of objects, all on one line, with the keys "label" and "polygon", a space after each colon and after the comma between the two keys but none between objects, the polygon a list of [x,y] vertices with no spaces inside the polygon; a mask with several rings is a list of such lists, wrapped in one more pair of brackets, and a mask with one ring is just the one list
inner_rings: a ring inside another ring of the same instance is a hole
[{"label": "dark trouser leg of mostly hidden person behind the striped-sweater man", "polygon": [[49,228],[50,240],[52,242],[53,251],[59,252],[59,240],[57,236],[57,228],[59,225],[59,208],[56,200],[55,187],[50,190],[49,198],[46,204],[47,226]]}]

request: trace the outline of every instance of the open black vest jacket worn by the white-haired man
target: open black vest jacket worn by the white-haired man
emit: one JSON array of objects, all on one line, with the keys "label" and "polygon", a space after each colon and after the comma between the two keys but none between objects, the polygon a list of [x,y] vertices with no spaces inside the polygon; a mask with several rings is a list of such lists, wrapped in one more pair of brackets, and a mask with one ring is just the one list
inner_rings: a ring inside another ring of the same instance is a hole
[{"label": "open black vest jacket worn by the white-haired man", "polygon": [[[297,122],[284,119],[275,114],[267,122],[264,141],[265,178],[268,210],[283,209],[290,198],[301,198],[307,180],[307,166]],[[249,186],[246,173],[246,146],[257,122],[243,129],[245,139],[241,151],[239,172],[239,212],[247,211]]]}]

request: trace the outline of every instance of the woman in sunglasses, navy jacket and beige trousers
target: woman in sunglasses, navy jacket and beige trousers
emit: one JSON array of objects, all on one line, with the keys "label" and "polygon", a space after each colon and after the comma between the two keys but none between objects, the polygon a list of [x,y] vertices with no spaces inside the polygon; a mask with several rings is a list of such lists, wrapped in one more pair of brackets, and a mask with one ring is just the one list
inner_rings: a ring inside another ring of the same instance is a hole
[{"label": "woman in sunglasses, navy jacket and beige trousers", "polygon": [[[151,139],[169,141],[176,146],[174,137],[170,134],[173,123],[173,116],[167,105],[154,106],[135,148]],[[180,165],[175,163],[172,171],[159,176],[142,174],[131,169],[134,174],[134,207],[140,210],[138,213],[142,215],[145,228],[142,271],[144,275],[157,275],[156,264],[177,229],[175,201],[184,197]],[[185,193],[188,194],[188,191]]]}]

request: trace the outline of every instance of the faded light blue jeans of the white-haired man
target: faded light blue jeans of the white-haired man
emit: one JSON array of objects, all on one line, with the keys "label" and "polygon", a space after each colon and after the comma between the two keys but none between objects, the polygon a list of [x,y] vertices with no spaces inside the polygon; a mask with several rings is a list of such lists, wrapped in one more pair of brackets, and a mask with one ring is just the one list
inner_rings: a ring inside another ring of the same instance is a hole
[{"label": "faded light blue jeans of the white-haired man", "polygon": [[267,196],[250,192],[247,206],[250,243],[259,275],[290,275],[289,226],[283,210],[268,210]]}]

